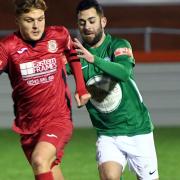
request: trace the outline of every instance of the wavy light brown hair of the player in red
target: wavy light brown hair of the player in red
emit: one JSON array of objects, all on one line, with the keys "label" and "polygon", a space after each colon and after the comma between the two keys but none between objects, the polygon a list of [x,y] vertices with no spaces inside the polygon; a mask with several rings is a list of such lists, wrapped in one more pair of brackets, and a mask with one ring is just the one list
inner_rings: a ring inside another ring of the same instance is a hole
[{"label": "wavy light brown hair of the player in red", "polygon": [[15,15],[20,16],[23,13],[28,13],[32,8],[47,10],[44,0],[14,0]]}]

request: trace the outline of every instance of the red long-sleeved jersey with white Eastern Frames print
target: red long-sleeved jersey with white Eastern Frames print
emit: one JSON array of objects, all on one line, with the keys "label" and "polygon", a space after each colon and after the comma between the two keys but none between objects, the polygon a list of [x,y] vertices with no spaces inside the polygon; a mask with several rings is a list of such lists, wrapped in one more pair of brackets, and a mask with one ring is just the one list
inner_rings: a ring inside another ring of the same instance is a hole
[{"label": "red long-sleeved jersey with white Eastern Frames print", "polygon": [[46,28],[34,44],[24,41],[19,33],[0,42],[0,72],[8,73],[13,88],[14,131],[31,134],[47,123],[65,126],[71,120],[64,58],[73,69],[77,92],[87,93],[81,65],[65,27]]}]

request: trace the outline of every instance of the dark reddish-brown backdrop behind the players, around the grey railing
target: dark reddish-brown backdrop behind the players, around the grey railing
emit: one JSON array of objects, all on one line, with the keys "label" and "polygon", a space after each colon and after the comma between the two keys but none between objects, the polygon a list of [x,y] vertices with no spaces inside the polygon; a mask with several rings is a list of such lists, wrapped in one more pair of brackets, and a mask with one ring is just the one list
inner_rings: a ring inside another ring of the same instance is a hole
[{"label": "dark reddish-brown backdrop behind the players, around the grey railing", "polygon": [[[80,0],[47,0],[47,25],[64,25],[77,28],[75,8]],[[0,30],[16,28],[13,0],[0,0]],[[158,27],[180,29],[180,5],[156,6],[105,6],[108,28]],[[134,50],[143,51],[143,34],[120,34],[128,39]],[[151,38],[153,50],[180,49],[179,35],[153,34]]]}]

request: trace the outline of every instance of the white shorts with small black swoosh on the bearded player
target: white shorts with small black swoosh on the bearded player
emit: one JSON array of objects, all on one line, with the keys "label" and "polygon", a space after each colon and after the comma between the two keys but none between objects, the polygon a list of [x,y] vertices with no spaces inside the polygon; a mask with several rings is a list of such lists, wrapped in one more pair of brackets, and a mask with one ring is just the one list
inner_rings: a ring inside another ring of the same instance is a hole
[{"label": "white shorts with small black swoosh on the bearded player", "polygon": [[153,133],[136,136],[100,136],[96,142],[96,159],[99,165],[114,161],[128,163],[142,180],[158,179],[158,165]]}]

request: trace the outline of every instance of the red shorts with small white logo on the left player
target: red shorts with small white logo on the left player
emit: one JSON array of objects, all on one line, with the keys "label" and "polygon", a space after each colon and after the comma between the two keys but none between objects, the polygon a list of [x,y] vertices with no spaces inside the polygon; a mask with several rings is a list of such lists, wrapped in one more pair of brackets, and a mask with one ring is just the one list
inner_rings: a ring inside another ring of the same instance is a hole
[{"label": "red shorts with small white logo on the left player", "polygon": [[56,147],[56,160],[52,163],[51,168],[54,165],[58,165],[63,157],[64,147],[71,139],[72,131],[72,124],[69,127],[66,126],[66,128],[51,125],[39,130],[34,134],[21,135],[21,145],[26,158],[29,162],[31,162],[31,155],[36,144],[40,141],[45,141],[53,144]]}]

